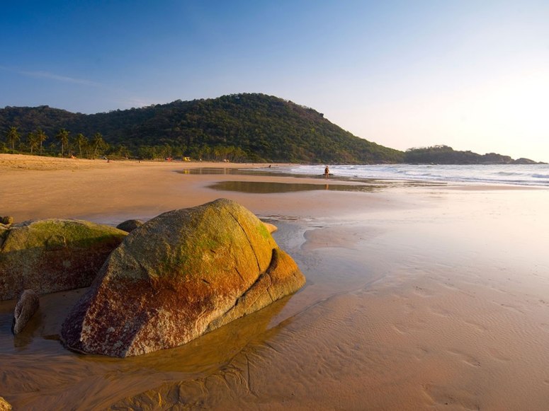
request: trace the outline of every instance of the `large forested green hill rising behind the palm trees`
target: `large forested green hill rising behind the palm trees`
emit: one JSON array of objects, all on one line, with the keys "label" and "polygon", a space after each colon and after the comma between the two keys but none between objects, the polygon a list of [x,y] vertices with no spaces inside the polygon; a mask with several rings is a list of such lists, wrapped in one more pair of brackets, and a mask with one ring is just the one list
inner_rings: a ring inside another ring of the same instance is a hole
[{"label": "large forested green hill rising behind the palm trees", "polygon": [[[81,133],[89,142],[94,137],[98,141],[99,134],[107,143],[99,147],[103,154],[143,158],[331,164],[398,163],[404,158],[402,151],[353,136],[312,108],[264,94],[176,100],[94,115],[47,106],[6,107],[0,110],[0,131],[5,134],[10,127],[17,127],[21,134],[19,147],[28,133],[42,129],[48,137],[45,150],[53,150],[55,136],[66,129],[72,139]],[[78,155],[74,143],[67,147]],[[97,153],[98,144],[94,147]]]}]

